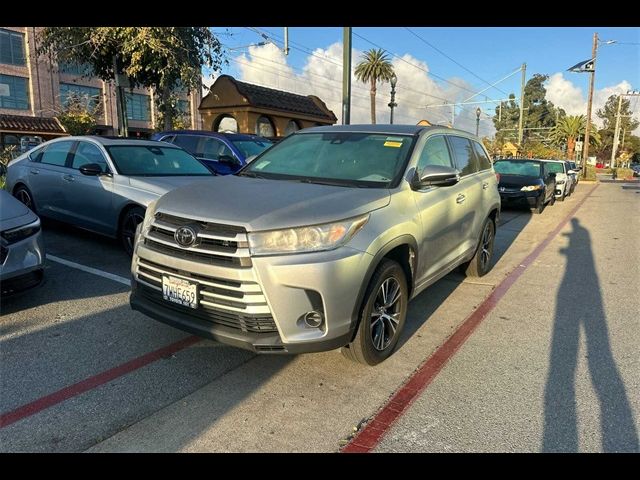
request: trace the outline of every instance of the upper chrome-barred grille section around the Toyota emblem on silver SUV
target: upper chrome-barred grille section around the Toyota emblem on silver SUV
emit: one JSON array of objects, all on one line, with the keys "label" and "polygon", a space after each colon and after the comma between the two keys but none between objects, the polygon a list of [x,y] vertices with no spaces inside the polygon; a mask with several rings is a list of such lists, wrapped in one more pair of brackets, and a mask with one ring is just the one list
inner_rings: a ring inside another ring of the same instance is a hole
[{"label": "upper chrome-barred grille section around the Toyota emblem on silver SUV", "polygon": [[[196,232],[196,240],[190,247],[183,247],[175,241],[176,230],[183,226],[190,226]],[[252,265],[247,231],[235,225],[203,222],[159,212],[145,233],[144,244],[156,252],[199,263],[232,268]]]}]

